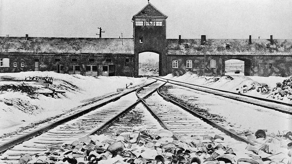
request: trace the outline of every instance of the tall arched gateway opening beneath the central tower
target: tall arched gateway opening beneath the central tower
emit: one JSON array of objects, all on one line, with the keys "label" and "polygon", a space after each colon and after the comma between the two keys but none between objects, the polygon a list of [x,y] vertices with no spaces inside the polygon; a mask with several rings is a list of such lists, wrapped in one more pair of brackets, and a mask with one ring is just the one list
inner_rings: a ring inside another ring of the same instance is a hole
[{"label": "tall arched gateway opening beneath the central tower", "polygon": [[159,76],[159,54],[155,52],[139,53],[139,76]]}]

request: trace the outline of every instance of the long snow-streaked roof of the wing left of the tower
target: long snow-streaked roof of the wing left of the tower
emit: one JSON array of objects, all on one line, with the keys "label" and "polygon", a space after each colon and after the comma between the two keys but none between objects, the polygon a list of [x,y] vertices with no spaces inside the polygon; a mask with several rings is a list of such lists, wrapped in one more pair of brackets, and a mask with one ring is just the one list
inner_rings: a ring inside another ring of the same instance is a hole
[{"label": "long snow-streaked roof of the wing left of the tower", "polygon": [[132,38],[0,37],[0,52],[53,54],[134,54]]}]

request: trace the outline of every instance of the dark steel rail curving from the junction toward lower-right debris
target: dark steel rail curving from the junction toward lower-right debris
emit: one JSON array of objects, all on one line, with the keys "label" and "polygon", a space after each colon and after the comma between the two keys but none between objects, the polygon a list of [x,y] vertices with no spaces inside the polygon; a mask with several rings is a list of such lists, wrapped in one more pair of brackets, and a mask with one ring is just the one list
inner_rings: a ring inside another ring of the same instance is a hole
[{"label": "dark steel rail curving from the junction toward lower-right debris", "polygon": [[[168,82],[168,81],[167,81],[167,82]],[[166,83],[167,83],[167,82],[166,82]],[[164,83],[162,86],[164,86],[166,83]],[[191,114],[194,115],[195,117],[198,117],[198,118],[202,119],[204,122],[206,122],[206,123],[208,123],[209,125],[211,125],[211,126],[217,128],[218,130],[222,131],[222,132],[225,133],[226,135],[229,135],[230,137],[234,138],[235,140],[242,141],[242,142],[245,142],[245,143],[247,143],[247,144],[255,145],[253,142],[251,142],[251,141],[249,141],[249,140],[247,140],[247,139],[241,137],[240,135],[237,135],[236,133],[234,133],[234,132],[232,132],[232,131],[229,131],[228,129],[226,129],[226,128],[220,126],[219,124],[217,124],[216,122],[213,122],[212,120],[210,120],[210,119],[208,119],[208,118],[206,118],[206,117],[204,117],[204,116],[202,116],[202,115],[200,115],[200,114],[198,114],[198,113],[192,111],[191,109],[187,108],[186,106],[184,106],[184,105],[182,105],[182,104],[180,104],[180,103],[178,103],[178,102],[176,102],[176,101],[174,101],[174,100],[171,100],[171,99],[168,98],[166,95],[163,95],[161,92],[159,92],[159,89],[160,89],[162,86],[160,86],[160,87],[157,88],[157,93],[158,93],[158,95],[162,96],[163,99],[165,99],[165,100],[167,100],[167,101],[169,101],[169,102],[171,102],[171,103],[173,103],[173,104],[179,106],[180,108],[182,108],[182,109],[188,111],[189,113],[191,113]]]}]

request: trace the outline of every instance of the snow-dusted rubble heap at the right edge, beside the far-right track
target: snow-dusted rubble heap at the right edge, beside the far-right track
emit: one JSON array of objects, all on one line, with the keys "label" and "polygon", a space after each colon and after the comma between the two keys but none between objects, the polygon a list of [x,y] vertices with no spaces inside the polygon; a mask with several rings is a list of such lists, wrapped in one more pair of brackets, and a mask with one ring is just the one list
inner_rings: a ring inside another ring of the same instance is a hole
[{"label": "snow-dusted rubble heap at the right edge, beside the far-right track", "polygon": [[292,100],[292,76],[285,79],[282,83],[277,82],[276,85],[268,97],[279,100],[283,100],[286,97]]}]

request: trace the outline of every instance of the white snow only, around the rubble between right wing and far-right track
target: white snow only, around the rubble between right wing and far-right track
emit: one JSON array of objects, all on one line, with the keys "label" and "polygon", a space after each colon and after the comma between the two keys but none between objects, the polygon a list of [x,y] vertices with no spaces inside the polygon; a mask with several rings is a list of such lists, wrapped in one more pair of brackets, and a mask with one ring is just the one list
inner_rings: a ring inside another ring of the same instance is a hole
[{"label": "white snow only, around the rubble between right wing and far-right track", "polygon": [[[266,94],[261,94],[261,92],[257,92],[257,89],[253,89],[250,91],[247,91],[246,93],[243,93],[244,85],[246,86],[259,86],[260,83],[266,83],[271,89],[276,87],[276,82],[282,83],[286,78],[285,77],[259,77],[259,76],[231,76],[234,78],[231,80],[228,78],[228,76],[221,76],[221,77],[209,77],[205,76],[198,76],[197,74],[187,72],[182,76],[176,77],[173,76],[172,74],[168,74],[164,78],[171,79],[171,80],[176,80],[176,81],[181,81],[181,82],[187,82],[191,84],[196,84],[196,85],[201,85],[201,86],[206,86],[210,88],[215,88],[215,89],[220,89],[220,90],[225,90],[225,91],[230,91],[230,92],[235,92],[246,95],[251,95],[255,97],[260,97],[260,98],[268,98],[271,100],[276,100],[276,101],[281,101],[285,103],[292,103],[292,100],[289,100],[287,98],[284,98],[283,100],[278,100],[278,99],[273,99],[271,96],[268,97]],[[219,79],[218,79],[219,78]]]}]

